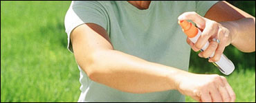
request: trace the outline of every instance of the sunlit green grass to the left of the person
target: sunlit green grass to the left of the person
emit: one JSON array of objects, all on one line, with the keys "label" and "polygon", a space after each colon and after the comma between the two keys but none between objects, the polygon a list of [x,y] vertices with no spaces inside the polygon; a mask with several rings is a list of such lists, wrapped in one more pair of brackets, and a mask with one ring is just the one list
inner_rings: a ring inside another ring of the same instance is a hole
[{"label": "sunlit green grass to the left of the person", "polygon": [[76,102],[79,70],[66,49],[71,1],[1,1],[1,102]]}]

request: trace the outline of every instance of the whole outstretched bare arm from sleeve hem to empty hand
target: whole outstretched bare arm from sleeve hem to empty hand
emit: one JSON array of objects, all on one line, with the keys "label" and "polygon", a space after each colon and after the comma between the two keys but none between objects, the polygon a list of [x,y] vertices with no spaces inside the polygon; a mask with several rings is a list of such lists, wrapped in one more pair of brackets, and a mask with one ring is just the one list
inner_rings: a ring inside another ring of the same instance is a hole
[{"label": "whole outstretched bare arm from sleeve hem to empty hand", "polygon": [[118,52],[99,25],[76,27],[71,42],[75,60],[89,78],[114,89],[130,93],[176,89],[198,101],[235,101],[235,93],[223,76],[188,73]]}]

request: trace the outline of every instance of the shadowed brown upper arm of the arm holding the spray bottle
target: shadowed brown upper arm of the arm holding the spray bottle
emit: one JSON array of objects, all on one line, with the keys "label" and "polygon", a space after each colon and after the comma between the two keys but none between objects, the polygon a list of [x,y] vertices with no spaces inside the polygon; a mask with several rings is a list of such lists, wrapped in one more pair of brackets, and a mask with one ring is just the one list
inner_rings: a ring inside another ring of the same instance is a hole
[{"label": "shadowed brown upper arm of the arm holding the spray bottle", "polygon": [[250,14],[236,8],[226,1],[219,1],[206,12],[205,18],[213,21],[235,21],[246,17],[253,17]]}]

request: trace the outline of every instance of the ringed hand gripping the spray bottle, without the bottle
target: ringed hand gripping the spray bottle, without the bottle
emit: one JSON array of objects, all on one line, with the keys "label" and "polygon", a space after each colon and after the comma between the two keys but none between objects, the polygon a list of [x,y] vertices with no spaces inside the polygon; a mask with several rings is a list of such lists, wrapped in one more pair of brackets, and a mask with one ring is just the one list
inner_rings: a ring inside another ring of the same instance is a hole
[{"label": "ringed hand gripping the spray bottle, without the bottle", "polygon": [[203,30],[201,36],[195,44],[187,38],[187,43],[195,52],[198,52],[205,45],[205,43],[212,40],[212,38],[219,39],[219,44],[215,41],[210,41],[208,48],[205,49],[204,52],[199,53],[201,58],[208,58],[214,53],[214,56],[209,59],[209,62],[219,61],[225,47],[230,45],[232,41],[230,31],[226,27],[223,27],[223,25],[220,23],[206,19],[203,16],[196,14],[196,12],[185,12],[181,14],[178,19],[192,20],[194,23],[196,23],[196,26],[199,27],[200,30]]}]

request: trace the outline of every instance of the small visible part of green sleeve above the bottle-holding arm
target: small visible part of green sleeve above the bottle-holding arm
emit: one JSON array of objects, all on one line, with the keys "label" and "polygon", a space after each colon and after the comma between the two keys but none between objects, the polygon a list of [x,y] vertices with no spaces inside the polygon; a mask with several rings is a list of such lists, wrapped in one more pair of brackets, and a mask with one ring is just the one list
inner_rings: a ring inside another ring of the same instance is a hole
[{"label": "small visible part of green sleeve above the bottle-holding arm", "polygon": [[196,1],[196,12],[204,16],[206,12],[218,1]]}]

